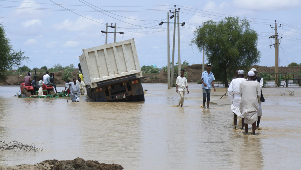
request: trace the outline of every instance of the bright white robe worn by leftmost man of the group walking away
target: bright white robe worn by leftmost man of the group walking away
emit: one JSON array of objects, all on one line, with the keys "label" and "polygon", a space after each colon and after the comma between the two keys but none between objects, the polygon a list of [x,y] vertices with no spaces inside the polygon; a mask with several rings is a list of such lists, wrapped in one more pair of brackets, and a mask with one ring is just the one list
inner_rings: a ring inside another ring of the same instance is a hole
[{"label": "bright white robe worn by leftmost man of the group walking away", "polygon": [[246,81],[246,79],[244,78],[233,79],[228,88],[228,98],[230,99],[231,102],[231,110],[240,118],[244,118],[244,116],[241,116],[239,110],[239,103],[241,100],[239,88],[240,88],[240,83],[244,81]]}]

